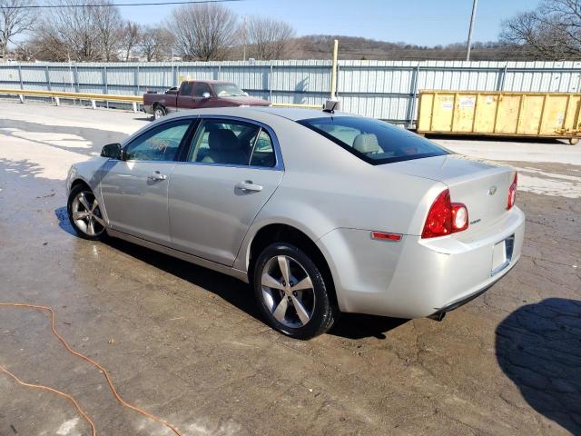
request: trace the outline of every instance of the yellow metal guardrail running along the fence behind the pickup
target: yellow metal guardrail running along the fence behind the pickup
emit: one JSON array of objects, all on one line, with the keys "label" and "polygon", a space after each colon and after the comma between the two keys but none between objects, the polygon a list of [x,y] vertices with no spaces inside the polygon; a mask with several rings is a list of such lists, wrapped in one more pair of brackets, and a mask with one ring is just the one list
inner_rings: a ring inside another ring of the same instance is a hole
[{"label": "yellow metal guardrail running along the fence behind the pickup", "polygon": [[[137,104],[143,104],[143,96],[138,95],[120,95],[120,94],[88,94],[88,93],[69,93],[61,91],[42,91],[37,89],[5,89],[0,88],[0,94],[18,95],[21,103],[25,103],[25,96],[38,97],[53,97],[55,104],[60,105],[61,98],[70,98],[74,100],[88,100],[96,109],[96,102],[122,102],[131,103],[133,105],[133,112],[138,111]],[[319,104],[287,104],[287,103],[273,103],[277,107],[302,107],[308,109],[320,109],[322,105]]]}]

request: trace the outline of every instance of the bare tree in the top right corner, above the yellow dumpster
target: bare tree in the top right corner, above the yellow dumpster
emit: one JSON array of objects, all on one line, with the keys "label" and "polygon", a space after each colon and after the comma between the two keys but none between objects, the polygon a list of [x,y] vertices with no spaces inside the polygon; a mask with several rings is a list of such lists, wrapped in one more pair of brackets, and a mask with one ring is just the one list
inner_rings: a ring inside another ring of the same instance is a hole
[{"label": "bare tree in the top right corner, above the yellow dumpster", "polygon": [[544,0],[534,11],[503,22],[500,40],[537,58],[578,59],[581,0]]}]

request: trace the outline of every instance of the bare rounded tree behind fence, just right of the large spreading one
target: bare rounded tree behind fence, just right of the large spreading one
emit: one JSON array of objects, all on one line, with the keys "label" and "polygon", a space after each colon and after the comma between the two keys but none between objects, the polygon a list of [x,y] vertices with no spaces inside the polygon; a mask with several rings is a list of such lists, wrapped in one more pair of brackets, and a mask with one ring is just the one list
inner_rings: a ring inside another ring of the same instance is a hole
[{"label": "bare rounded tree behind fence, just right of the large spreading one", "polygon": [[290,54],[295,31],[288,23],[262,16],[251,16],[245,35],[258,59],[283,59]]}]

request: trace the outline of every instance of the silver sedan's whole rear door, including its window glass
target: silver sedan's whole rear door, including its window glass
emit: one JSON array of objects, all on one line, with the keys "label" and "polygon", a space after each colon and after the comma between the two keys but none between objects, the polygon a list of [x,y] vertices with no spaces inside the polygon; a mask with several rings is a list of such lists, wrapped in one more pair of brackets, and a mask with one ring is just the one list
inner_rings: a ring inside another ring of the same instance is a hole
[{"label": "silver sedan's whole rear door, including its window glass", "polygon": [[282,175],[280,150],[268,126],[202,119],[189,152],[172,173],[172,246],[231,266]]}]

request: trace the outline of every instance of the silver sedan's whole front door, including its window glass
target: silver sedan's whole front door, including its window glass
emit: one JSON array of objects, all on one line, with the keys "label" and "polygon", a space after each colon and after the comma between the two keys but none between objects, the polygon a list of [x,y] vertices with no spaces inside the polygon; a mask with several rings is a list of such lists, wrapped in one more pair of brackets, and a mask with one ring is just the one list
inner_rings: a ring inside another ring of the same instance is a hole
[{"label": "silver sedan's whole front door, including its window glass", "polygon": [[101,193],[113,230],[170,243],[168,186],[191,119],[158,124],[123,147],[123,160],[103,166]]}]

